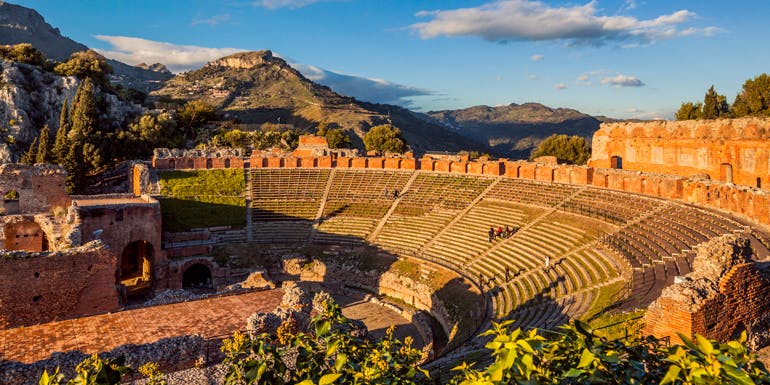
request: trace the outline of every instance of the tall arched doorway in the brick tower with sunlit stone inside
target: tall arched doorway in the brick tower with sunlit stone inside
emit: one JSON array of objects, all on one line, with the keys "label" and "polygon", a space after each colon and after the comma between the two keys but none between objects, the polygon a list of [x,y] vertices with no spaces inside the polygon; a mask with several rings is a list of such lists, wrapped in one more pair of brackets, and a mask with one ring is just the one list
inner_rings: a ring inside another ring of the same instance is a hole
[{"label": "tall arched doorway in the brick tower with sunlit stone inside", "polygon": [[126,294],[145,296],[152,292],[152,264],[154,249],[147,241],[134,241],[120,254],[120,283]]}]

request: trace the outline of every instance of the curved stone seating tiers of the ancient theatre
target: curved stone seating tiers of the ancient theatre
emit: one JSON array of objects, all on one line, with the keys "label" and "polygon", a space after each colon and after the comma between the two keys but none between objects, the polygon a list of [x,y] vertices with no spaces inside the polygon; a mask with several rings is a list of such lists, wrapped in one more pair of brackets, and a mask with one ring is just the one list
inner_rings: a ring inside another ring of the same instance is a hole
[{"label": "curved stone seating tiers of the ancient theatre", "polygon": [[[482,281],[491,314],[520,326],[579,317],[622,279],[633,282],[630,302],[644,304],[690,271],[697,245],[750,234],[716,212],[591,186],[365,169],[260,169],[250,178],[258,242],[372,242],[451,266]],[[517,231],[490,242],[490,226],[506,225]]]}]

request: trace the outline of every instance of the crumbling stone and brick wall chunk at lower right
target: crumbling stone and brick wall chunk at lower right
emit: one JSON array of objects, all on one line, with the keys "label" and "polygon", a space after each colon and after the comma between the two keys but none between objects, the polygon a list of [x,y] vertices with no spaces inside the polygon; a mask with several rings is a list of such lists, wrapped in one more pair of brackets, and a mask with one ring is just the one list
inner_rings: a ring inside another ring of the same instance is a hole
[{"label": "crumbling stone and brick wall chunk at lower right", "polygon": [[665,288],[645,314],[645,333],[670,337],[696,333],[727,341],[770,311],[765,263],[751,261],[749,241],[737,235],[716,238],[701,247],[693,272]]}]

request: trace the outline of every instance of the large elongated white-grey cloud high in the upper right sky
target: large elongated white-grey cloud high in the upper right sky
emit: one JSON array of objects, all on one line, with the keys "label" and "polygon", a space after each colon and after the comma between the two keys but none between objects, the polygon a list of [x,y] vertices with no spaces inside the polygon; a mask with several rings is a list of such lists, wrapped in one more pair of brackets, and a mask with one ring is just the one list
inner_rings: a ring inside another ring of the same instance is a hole
[{"label": "large elongated white-grey cloud high in the upper right sky", "polygon": [[474,8],[422,11],[417,16],[430,20],[409,28],[423,39],[477,36],[500,43],[558,40],[573,45],[602,45],[610,41],[652,43],[692,34],[710,36],[719,30],[716,27],[680,29],[681,24],[696,16],[688,10],[639,20],[631,16],[600,15],[596,5],[595,0],[562,7],[533,0],[494,0]]}]

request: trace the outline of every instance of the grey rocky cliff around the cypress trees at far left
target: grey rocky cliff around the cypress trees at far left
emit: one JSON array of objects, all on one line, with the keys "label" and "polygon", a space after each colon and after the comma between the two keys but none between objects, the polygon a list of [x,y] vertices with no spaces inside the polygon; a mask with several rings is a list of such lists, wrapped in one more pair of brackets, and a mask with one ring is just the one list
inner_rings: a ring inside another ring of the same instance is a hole
[{"label": "grey rocky cliff around the cypress trees at far left", "polygon": [[[45,125],[55,134],[65,100],[72,101],[80,81],[39,67],[0,60],[0,163],[15,161]],[[105,130],[125,125],[142,107],[103,93]]]}]

